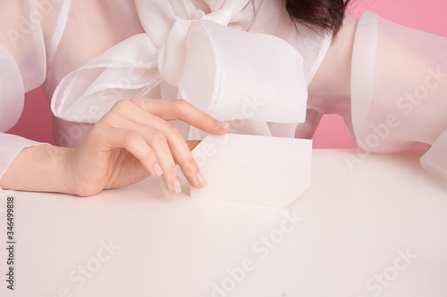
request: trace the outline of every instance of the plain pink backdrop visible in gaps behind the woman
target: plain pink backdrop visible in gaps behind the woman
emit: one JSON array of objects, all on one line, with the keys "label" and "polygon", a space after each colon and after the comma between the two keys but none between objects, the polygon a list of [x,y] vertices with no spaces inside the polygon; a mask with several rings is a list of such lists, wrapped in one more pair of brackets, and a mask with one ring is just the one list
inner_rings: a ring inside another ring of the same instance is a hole
[{"label": "plain pink backdrop visible in gaps behind the woman", "polygon": [[[447,2],[445,0],[351,0],[350,12],[358,17],[370,10],[402,25],[447,37]],[[29,92],[21,120],[9,132],[41,142],[53,143],[52,117],[40,88]],[[315,148],[356,147],[342,118],[325,115],[314,136]]]}]

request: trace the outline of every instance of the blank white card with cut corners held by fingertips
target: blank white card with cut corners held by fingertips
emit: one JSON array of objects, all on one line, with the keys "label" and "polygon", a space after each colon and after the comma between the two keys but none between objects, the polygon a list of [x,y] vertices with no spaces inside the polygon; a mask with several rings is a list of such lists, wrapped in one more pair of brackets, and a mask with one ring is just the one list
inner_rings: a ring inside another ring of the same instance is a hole
[{"label": "blank white card with cut corners held by fingertips", "polygon": [[207,136],[192,154],[208,185],[191,197],[285,208],[310,185],[308,139]]}]

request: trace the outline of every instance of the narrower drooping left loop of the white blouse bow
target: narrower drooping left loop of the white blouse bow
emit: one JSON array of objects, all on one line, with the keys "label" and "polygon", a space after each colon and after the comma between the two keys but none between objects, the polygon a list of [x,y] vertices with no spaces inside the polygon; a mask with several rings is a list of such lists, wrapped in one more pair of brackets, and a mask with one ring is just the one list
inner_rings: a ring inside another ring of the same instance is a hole
[{"label": "narrower drooping left loop of the white blouse bow", "polygon": [[61,80],[51,101],[53,113],[63,120],[96,123],[120,99],[148,94],[162,81],[157,53],[146,34],[115,45]]}]

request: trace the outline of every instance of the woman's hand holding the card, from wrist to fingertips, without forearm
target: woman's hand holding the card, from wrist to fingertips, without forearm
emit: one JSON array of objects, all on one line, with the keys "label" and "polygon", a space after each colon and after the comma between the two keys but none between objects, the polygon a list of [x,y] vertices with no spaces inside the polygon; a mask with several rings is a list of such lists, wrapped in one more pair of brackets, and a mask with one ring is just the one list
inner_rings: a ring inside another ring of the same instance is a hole
[{"label": "woman's hand holding the card, from wrist to fingertips, without forearm", "polygon": [[180,193],[176,163],[191,186],[206,186],[190,146],[167,120],[182,120],[215,135],[227,133],[229,127],[181,99],[122,100],[70,153],[67,175],[72,192],[97,194],[153,175],[162,176],[170,192]]}]

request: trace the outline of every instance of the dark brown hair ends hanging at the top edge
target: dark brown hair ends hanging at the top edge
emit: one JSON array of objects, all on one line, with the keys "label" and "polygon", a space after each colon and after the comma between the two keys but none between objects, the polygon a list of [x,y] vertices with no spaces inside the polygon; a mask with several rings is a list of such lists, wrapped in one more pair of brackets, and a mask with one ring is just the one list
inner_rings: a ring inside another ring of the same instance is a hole
[{"label": "dark brown hair ends hanging at the top edge", "polygon": [[342,27],[350,0],[282,0],[293,21],[335,37]]}]

